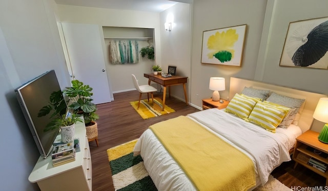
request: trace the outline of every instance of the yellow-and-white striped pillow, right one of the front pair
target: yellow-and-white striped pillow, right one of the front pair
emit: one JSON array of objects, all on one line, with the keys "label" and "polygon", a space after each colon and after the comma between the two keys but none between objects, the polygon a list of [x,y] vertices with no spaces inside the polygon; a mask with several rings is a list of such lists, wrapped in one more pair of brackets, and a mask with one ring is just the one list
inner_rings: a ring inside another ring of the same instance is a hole
[{"label": "yellow-and-white striped pillow, right one of the front pair", "polygon": [[252,113],[247,119],[245,119],[245,121],[255,123],[268,131],[276,133],[278,124],[286,116],[289,110],[288,107],[276,103],[259,101],[256,103]]}]

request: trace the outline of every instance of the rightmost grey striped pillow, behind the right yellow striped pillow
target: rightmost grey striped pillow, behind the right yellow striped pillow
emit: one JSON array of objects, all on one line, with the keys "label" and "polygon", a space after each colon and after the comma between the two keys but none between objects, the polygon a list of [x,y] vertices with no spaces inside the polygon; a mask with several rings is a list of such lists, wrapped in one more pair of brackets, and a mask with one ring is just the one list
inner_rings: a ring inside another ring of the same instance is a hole
[{"label": "rightmost grey striped pillow, behind the right yellow striped pillow", "polygon": [[280,128],[288,128],[294,120],[296,120],[297,122],[297,120],[299,119],[299,116],[302,112],[300,108],[302,107],[302,104],[304,103],[305,99],[297,99],[272,92],[271,95],[268,97],[267,101],[290,108],[290,111],[288,112],[286,117],[278,125]]}]

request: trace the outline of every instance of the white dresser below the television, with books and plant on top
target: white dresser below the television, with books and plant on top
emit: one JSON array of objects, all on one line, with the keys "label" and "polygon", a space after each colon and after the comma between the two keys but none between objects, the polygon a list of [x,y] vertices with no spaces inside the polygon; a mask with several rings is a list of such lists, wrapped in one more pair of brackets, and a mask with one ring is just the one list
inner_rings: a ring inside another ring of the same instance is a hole
[{"label": "white dresser below the television, with books and plant on top", "polygon": [[75,161],[53,167],[51,156],[46,159],[40,156],[29,176],[31,183],[36,182],[41,190],[47,191],[92,190],[91,155],[83,122],[75,124],[74,137],[80,142],[80,152],[75,153]]}]

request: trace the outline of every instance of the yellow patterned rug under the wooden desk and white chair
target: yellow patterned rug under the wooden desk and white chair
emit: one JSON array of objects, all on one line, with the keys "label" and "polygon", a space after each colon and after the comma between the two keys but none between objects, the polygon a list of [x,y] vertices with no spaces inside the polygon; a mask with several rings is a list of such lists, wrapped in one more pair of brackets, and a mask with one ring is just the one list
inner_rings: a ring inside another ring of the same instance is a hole
[{"label": "yellow patterned rug under the wooden desk and white chair", "polygon": [[168,105],[165,105],[164,111],[157,111],[153,108],[153,102],[152,99],[142,99],[140,101],[140,107],[138,108],[138,102],[139,101],[131,101],[130,104],[135,109],[136,112],[142,117],[142,119],[149,119],[152,117],[157,117],[169,113],[175,112],[172,108],[168,107]]}]

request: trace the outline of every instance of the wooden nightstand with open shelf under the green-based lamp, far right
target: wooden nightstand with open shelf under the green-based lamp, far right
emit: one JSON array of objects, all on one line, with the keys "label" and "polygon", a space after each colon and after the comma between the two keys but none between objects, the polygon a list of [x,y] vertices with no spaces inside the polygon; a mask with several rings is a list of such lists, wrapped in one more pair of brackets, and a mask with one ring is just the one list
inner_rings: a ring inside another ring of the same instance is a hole
[{"label": "wooden nightstand with open shelf under the green-based lamp, far right", "polygon": [[[318,140],[319,133],[314,131],[306,131],[296,138],[294,148],[293,160],[296,161],[294,168],[297,164],[301,164],[311,171],[326,178],[326,185],[328,185],[328,171],[321,172],[319,169],[308,164],[310,158],[313,158],[321,163],[328,164],[328,144],[322,143]],[[318,154],[315,154],[314,151]],[[319,155],[319,153],[321,154]]]}]

